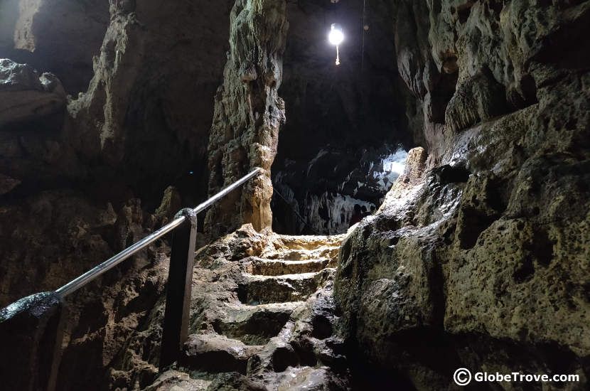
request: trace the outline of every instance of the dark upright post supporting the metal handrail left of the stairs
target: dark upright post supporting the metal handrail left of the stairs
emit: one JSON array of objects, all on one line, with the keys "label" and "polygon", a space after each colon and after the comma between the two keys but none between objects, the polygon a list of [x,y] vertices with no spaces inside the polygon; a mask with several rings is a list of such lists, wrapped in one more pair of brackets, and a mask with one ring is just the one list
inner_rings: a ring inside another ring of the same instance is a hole
[{"label": "dark upright post supporting the metal handrail left of the stairs", "polygon": [[183,344],[188,338],[188,320],[191,309],[193,262],[197,237],[197,214],[193,209],[183,209],[176,218],[184,216],[183,223],[172,237],[170,270],[166,288],[160,370],[178,359]]}]

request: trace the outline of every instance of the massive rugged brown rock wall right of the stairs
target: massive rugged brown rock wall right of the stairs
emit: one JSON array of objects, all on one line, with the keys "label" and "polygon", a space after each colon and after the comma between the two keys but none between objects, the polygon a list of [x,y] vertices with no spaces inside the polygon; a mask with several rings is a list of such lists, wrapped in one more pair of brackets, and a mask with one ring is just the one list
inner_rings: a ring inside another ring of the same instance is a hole
[{"label": "massive rugged brown rock wall right of the stairs", "polygon": [[426,149],[341,247],[350,352],[376,387],[454,390],[465,367],[580,376],[473,390],[584,390],[590,3],[396,4]]}]

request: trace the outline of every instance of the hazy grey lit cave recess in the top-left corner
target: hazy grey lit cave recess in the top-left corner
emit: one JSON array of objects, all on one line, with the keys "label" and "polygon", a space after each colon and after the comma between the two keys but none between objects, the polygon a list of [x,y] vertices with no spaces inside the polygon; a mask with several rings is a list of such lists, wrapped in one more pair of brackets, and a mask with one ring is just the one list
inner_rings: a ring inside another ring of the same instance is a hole
[{"label": "hazy grey lit cave recess in the top-left corner", "polygon": [[50,71],[77,95],[92,78],[92,56],[109,25],[109,1],[4,0],[0,58]]}]

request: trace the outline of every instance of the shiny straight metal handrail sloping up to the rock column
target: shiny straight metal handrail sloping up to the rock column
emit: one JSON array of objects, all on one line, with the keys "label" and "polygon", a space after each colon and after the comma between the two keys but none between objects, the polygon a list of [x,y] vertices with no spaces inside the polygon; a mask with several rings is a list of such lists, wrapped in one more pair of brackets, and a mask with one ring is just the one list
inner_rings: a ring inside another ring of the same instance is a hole
[{"label": "shiny straight metal handrail sloping up to the rock column", "polygon": [[[259,168],[259,167],[255,168],[254,171],[252,171],[252,172],[248,173],[246,176],[243,176],[242,178],[238,179],[237,181],[232,183],[230,186],[227,186],[227,188],[224,188],[219,193],[216,193],[215,195],[213,195],[213,197],[209,198],[205,202],[197,205],[197,207],[194,208],[193,211],[195,213],[199,213],[200,211],[204,210],[205,208],[208,208],[208,206],[212,205],[220,198],[223,198],[225,195],[227,195],[227,193],[230,193],[230,191],[235,190],[235,188],[237,188],[237,187],[241,186],[243,183],[249,181],[254,176],[257,176],[261,171],[262,171],[262,168]],[[61,288],[57,289],[55,291],[55,293],[59,294],[62,297],[65,297],[65,296],[68,296],[68,294],[71,294],[71,293],[77,291],[85,284],[91,282],[93,279],[96,279],[97,277],[100,277],[105,272],[107,272],[110,269],[112,269],[113,267],[117,266],[117,264],[119,264],[119,263],[123,262],[125,259],[131,257],[136,252],[144,249],[145,247],[150,245],[152,242],[158,240],[163,235],[166,235],[168,232],[170,232],[174,228],[178,227],[178,225],[181,225],[185,219],[186,219],[185,216],[181,216],[179,218],[176,218],[175,220],[171,221],[171,223],[164,225],[156,232],[152,232],[150,235],[144,237],[139,242],[136,242],[134,245],[127,247],[122,252],[119,252],[119,254],[114,255],[113,257],[110,257],[109,259],[102,262],[102,264],[99,264],[94,269],[90,269],[88,272],[85,272],[80,277],[77,277],[76,279],[73,279],[72,281],[68,282],[68,284],[65,284]]]}]

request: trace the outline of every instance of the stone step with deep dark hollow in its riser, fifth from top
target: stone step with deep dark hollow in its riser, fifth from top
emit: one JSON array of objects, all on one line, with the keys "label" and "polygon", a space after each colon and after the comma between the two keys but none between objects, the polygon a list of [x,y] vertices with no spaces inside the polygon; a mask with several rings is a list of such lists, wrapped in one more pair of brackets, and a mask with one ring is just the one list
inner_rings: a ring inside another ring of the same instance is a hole
[{"label": "stone step with deep dark hollow in its riser, fifth from top", "polygon": [[277,336],[289,321],[291,313],[304,301],[260,304],[258,306],[225,306],[225,316],[213,323],[216,333],[242,341],[246,345],[265,345]]}]

